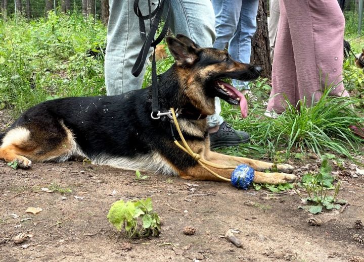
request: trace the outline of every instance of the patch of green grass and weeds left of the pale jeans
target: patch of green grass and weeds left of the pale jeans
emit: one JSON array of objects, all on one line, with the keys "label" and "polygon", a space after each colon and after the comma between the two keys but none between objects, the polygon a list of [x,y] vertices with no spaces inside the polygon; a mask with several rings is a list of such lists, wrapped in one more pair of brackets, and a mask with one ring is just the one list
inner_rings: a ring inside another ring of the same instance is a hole
[{"label": "patch of green grass and weeds left of the pale jeans", "polygon": [[14,117],[36,103],[105,93],[103,61],[86,56],[105,45],[106,28],[79,14],[0,20],[0,105]]}]

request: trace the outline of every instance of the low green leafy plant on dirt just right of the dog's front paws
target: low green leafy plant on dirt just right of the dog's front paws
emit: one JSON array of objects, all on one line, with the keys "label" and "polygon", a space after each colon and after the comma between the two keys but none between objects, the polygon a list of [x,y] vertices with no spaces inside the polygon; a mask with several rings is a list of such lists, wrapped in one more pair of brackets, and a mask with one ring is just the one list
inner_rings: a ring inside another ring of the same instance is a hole
[{"label": "low green leafy plant on dirt just right of the dog's front paws", "polygon": [[[306,174],[302,177],[302,187],[306,189],[308,197],[302,198],[303,202],[311,204],[299,206],[312,214],[318,214],[327,210],[340,209],[341,204],[346,203],[345,200],[338,200],[337,195],[340,189],[340,182],[333,185],[334,178],[331,176],[331,166],[327,158],[323,158],[319,174]],[[329,189],[335,189],[334,194],[328,195]]]}]

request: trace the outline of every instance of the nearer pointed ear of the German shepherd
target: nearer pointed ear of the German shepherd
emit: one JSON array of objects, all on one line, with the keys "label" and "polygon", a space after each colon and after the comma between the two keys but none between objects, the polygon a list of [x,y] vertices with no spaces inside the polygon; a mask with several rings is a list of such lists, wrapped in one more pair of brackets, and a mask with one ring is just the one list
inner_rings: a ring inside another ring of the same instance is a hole
[{"label": "nearer pointed ear of the German shepherd", "polygon": [[166,42],[178,66],[191,66],[198,59],[198,52],[195,46],[188,46],[184,42],[169,36],[166,37]]}]

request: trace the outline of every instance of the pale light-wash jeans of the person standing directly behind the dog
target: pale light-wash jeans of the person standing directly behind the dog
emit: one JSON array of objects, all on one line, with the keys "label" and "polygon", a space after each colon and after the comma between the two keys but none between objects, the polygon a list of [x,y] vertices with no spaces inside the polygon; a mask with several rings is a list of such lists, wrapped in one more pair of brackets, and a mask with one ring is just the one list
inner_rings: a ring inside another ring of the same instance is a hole
[{"label": "pale light-wash jeans of the person standing directly behind the dog", "polygon": [[[170,1],[169,27],[174,34],[184,34],[201,47],[212,47],[215,40],[215,17],[210,0],[165,0]],[[158,4],[152,0],[152,10]],[[142,48],[139,20],[133,11],[134,0],[109,0],[110,17],[107,31],[105,55],[105,82],[108,95],[116,95],[142,87],[145,67],[139,77],[131,69]],[[148,14],[148,1],[140,1],[143,15]],[[164,18],[163,18],[164,19]],[[145,21],[147,34],[149,21]],[[150,52],[152,51],[152,48]],[[209,127],[223,122],[219,116],[220,101],[215,100],[215,114],[208,116]]]}]

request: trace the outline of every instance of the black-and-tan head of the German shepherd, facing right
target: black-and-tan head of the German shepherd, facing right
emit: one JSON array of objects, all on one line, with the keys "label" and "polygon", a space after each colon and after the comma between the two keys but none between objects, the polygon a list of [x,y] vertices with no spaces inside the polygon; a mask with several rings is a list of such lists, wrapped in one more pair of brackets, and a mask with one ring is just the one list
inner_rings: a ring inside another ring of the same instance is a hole
[{"label": "black-and-tan head of the German shepherd, facing right", "polygon": [[166,41],[185,95],[207,115],[214,113],[215,96],[230,104],[240,103],[241,93],[222,79],[250,81],[260,75],[260,67],[239,63],[224,50],[201,48],[187,36],[177,34]]}]

